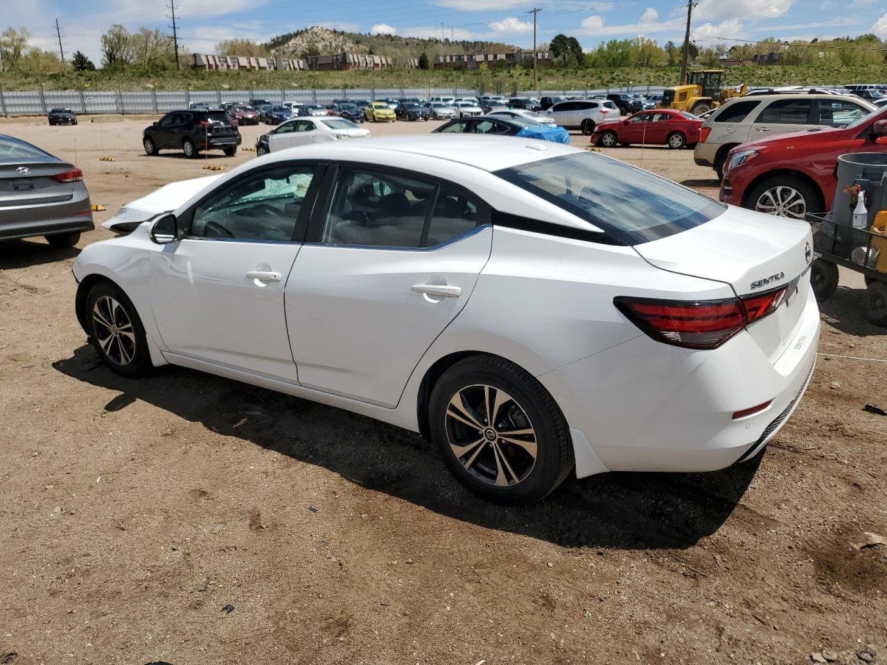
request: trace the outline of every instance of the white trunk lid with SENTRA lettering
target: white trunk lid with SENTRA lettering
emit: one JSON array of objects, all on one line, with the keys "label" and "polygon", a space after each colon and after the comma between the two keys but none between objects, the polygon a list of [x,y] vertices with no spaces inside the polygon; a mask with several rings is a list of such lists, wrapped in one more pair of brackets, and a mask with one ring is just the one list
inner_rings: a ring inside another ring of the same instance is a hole
[{"label": "white trunk lid with SENTRA lettering", "polygon": [[743,298],[789,286],[784,303],[748,327],[771,362],[781,356],[804,311],[812,248],[809,224],[739,207],[634,247],[656,268],[726,282]]}]

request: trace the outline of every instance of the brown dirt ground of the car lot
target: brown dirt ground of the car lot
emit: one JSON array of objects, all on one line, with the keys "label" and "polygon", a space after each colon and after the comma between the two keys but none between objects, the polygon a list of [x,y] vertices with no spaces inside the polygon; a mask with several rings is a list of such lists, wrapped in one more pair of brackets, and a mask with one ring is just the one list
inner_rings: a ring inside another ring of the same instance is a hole
[{"label": "brown dirt ground of the car lot", "polygon": [[[146,157],[148,121],[0,133],[75,160],[97,222],[255,154]],[[611,152],[717,191],[689,150]],[[821,303],[832,356],[762,457],[507,509],[395,427],[184,369],[116,376],[75,320],[77,252],[0,245],[0,661],[887,662],[887,545],[861,546],[887,536],[887,418],[862,411],[887,409],[887,330],[856,276]]]}]

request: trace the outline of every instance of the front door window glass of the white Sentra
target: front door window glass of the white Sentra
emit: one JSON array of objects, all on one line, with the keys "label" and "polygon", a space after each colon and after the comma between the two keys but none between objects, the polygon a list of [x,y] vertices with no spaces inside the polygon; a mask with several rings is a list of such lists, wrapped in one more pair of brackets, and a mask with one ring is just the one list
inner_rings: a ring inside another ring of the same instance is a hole
[{"label": "front door window glass of the white Sentra", "polygon": [[314,173],[313,166],[288,164],[239,178],[194,209],[190,236],[291,240]]}]

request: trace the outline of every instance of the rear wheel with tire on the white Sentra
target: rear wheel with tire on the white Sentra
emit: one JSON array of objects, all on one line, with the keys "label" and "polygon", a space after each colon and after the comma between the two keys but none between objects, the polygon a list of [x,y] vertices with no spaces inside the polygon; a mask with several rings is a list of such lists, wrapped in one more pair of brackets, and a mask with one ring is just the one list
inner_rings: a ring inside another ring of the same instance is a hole
[{"label": "rear wheel with tire on the white Sentra", "polygon": [[437,381],[432,439],[450,472],[478,497],[534,504],[573,468],[569,427],[546,389],[495,356],[469,356]]}]

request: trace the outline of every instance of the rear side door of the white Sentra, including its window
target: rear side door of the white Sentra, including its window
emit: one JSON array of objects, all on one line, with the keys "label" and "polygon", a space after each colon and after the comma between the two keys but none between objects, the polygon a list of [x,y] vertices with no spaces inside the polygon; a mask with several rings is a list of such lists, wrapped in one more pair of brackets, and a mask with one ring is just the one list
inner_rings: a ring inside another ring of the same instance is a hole
[{"label": "rear side door of the white Sentra, including its window", "polygon": [[287,282],[302,386],[393,407],[490,256],[489,208],[459,186],[342,164]]}]

